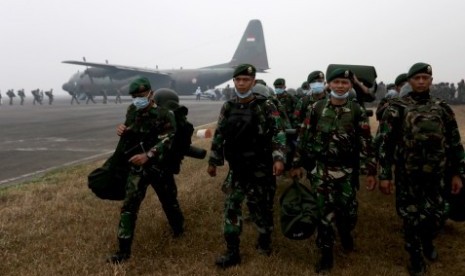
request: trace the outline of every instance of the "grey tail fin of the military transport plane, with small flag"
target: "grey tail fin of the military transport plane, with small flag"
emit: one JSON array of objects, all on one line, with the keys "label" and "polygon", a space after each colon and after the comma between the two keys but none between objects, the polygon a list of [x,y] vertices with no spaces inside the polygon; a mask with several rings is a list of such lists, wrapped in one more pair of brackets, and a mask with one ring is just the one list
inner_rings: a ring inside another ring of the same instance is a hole
[{"label": "grey tail fin of the military transport plane, with small flag", "polygon": [[249,21],[229,66],[236,67],[242,63],[254,65],[259,72],[269,69],[262,23],[258,19]]}]

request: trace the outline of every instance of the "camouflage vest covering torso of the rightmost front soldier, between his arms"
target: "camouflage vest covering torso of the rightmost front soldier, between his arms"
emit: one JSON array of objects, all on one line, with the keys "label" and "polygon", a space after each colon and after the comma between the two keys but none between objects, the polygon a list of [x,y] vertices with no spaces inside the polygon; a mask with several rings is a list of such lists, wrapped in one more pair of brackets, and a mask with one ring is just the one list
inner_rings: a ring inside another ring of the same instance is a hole
[{"label": "camouflage vest covering torso of the rightmost front soldier, between his arms", "polygon": [[425,104],[414,104],[410,98],[403,98],[400,109],[402,158],[407,171],[424,173],[444,172],[446,162],[446,137],[443,120],[443,100],[434,98]]}]

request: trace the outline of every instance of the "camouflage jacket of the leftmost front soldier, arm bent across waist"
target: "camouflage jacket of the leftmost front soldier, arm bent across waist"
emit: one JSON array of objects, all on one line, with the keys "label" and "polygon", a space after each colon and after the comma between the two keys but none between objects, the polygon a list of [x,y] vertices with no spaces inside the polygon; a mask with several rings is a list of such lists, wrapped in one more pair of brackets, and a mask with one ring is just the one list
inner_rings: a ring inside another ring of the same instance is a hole
[{"label": "camouflage jacket of the leftmost front soldier, arm bent across waist", "polygon": [[124,125],[128,128],[123,137],[127,137],[132,146],[141,144],[143,152],[152,152],[152,163],[160,163],[170,149],[176,133],[174,113],[164,107],[152,106],[148,110],[136,110],[128,107]]}]

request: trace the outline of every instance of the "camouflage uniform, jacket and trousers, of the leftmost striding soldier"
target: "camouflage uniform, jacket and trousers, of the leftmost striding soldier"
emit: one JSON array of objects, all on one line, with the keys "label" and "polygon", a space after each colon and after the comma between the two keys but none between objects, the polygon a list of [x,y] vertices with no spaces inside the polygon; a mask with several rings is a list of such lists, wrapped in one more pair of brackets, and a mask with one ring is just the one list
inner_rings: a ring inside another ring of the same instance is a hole
[{"label": "camouflage uniform, jacket and trousers, of the leftmost striding soldier", "polygon": [[174,114],[161,107],[152,107],[148,111],[140,112],[136,111],[134,105],[130,105],[124,124],[131,129],[130,135],[139,140],[146,139],[148,133],[156,133],[158,136],[151,137],[152,141],[147,144],[154,145],[157,156],[156,160],[150,161],[151,165],[131,168],[126,184],[126,198],[121,208],[118,238],[132,239],[137,213],[149,184],[157,193],[174,233],[181,232],[184,218],[177,200],[173,174],[166,169],[160,170],[160,167],[163,167],[164,153],[170,148],[175,133]]}]

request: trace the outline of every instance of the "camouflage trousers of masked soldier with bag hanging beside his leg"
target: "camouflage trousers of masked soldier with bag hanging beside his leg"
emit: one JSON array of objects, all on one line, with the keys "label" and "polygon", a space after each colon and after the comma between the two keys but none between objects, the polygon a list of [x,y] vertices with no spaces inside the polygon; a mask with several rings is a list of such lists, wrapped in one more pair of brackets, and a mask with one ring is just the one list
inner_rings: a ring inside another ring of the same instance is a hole
[{"label": "camouflage trousers of masked soldier with bag hanging beside his leg", "polygon": [[316,245],[320,249],[333,247],[334,227],[339,235],[350,234],[355,228],[358,201],[352,174],[352,168],[328,167],[321,162],[311,171],[309,179],[319,210]]}]

